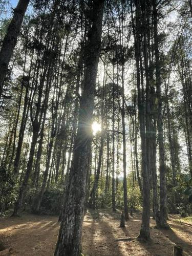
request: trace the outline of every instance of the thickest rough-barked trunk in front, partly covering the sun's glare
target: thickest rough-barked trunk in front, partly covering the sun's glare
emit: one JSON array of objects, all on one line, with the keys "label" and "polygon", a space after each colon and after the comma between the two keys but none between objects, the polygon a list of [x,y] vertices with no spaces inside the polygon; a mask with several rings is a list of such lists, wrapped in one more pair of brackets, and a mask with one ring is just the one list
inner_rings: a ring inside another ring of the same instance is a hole
[{"label": "thickest rough-barked trunk in front, partly covering the sun's glare", "polygon": [[91,29],[86,48],[86,71],[80,100],[78,130],[74,142],[74,154],[63,207],[55,256],[80,256],[81,233],[86,198],[86,176],[91,146],[91,121],[94,108],[97,67],[101,49],[101,32],[104,0],[94,0]]}]

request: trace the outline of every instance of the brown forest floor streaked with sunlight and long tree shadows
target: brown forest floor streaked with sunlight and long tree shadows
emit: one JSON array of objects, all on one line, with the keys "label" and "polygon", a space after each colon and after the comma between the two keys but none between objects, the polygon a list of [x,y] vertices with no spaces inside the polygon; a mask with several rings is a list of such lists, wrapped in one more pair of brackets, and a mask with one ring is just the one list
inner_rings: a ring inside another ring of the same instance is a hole
[{"label": "brown forest floor streaked with sunlight and long tree shadows", "polygon": [[[176,215],[169,215],[171,230],[154,229],[151,219],[151,242],[115,241],[135,238],[140,229],[141,214],[134,214],[119,228],[120,211],[111,209],[88,210],[83,221],[82,246],[86,256],[172,255],[173,243],[192,255],[192,222],[181,223]],[[7,246],[0,255],[51,256],[59,230],[58,218],[24,214],[22,217],[0,218],[0,240]],[[181,225],[182,224],[182,225]],[[8,252],[9,251],[9,252]],[[4,254],[3,254],[4,253]]]}]

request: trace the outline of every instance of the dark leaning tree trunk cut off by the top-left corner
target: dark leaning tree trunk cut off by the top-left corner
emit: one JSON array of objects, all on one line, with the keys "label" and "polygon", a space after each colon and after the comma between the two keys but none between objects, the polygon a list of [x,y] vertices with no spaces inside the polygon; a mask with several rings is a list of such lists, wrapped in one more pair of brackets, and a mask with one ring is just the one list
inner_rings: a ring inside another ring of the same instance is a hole
[{"label": "dark leaning tree trunk cut off by the top-left corner", "polygon": [[7,73],[9,61],[13,54],[29,1],[30,0],[19,0],[17,7],[14,9],[13,18],[8,27],[7,34],[3,40],[3,45],[0,52],[0,97],[2,94],[3,82]]}]

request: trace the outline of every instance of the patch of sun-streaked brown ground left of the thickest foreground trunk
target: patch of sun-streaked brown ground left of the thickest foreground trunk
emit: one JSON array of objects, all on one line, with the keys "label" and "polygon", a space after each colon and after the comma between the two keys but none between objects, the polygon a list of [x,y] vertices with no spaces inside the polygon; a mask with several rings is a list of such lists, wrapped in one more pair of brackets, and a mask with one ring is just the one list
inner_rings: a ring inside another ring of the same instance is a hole
[{"label": "patch of sun-streaked brown ground left of the thickest foreground trunk", "polygon": [[50,216],[26,215],[0,221],[1,239],[12,247],[14,255],[48,255],[48,247],[54,249],[58,229],[57,218]]}]

